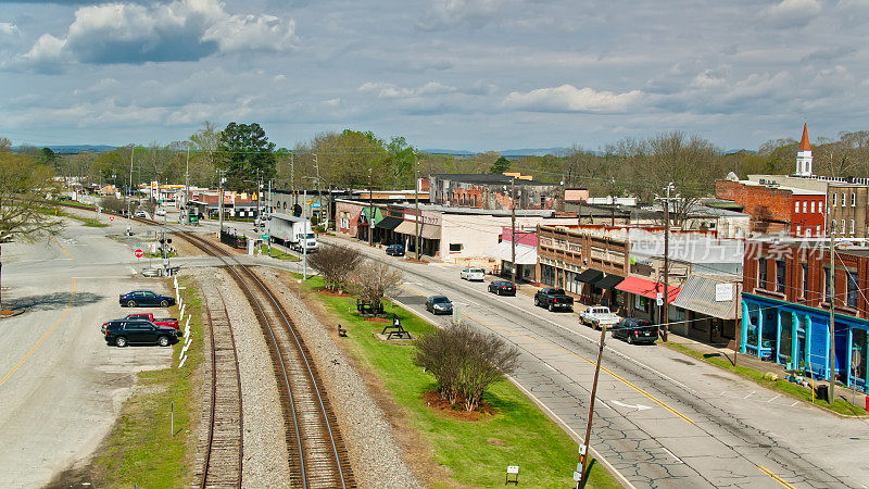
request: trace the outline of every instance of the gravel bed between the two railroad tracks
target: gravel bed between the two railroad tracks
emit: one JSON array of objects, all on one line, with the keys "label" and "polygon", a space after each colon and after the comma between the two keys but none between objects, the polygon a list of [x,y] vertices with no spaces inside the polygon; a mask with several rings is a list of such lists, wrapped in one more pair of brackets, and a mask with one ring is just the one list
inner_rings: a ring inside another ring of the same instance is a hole
[{"label": "gravel bed between the two railroad tracks", "polygon": [[223,296],[232,324],[241,368],[244,412],[242,485],[251,488],[289,487],[290,474],[280,400],[272,371],[272,359],[260,324],[247,298],[235,286],[227,272],[203,268],[190,269],[190,274],[209,298],[216,298],[218,293]]}]

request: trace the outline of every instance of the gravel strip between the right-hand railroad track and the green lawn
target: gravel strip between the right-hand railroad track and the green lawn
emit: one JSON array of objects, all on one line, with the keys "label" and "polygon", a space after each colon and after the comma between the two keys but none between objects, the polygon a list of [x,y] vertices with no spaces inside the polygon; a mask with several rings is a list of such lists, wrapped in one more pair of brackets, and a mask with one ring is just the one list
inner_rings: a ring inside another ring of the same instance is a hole
[{"label": "gravel strip between the right-hand railroad track and the green lawn", "polygon": [[[280,292],[280,300],[295,321],[317,364],[350,451],[358,487],[421,487],[401,456],[402,449],[392,432],[392,426],[371,398],[358,372],[352,367],[350,359],[344,358],[342,350],[332,341],[328,329],[280,281],[274,271],[257,268],[256,272],[272,290]],[[267,358],[267,352],[264,351],[263,355]]]}]

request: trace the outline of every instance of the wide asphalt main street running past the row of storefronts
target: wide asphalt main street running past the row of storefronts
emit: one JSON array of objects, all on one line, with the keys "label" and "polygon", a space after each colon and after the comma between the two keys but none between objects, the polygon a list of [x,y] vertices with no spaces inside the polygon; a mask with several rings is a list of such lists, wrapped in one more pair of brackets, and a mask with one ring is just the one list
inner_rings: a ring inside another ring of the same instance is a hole
[{"label": "wide asphalt main street running past the row of storefronts", "polygon": [[[444,294],[464,321],[515,344],[514,380],[576,439],[585,432],[600,333],[575,314],[496,297],[450,265],[388,258],[405,273],[398,300],[421,315]],[[439,321],[446,321],[439,319]],[[866,487],[869,423],[846,419],[656,346],[606,339],[591,447],[634,487]],[[575,460],[564,465],[566,480]],[[516,461],[521,465],[521,461]]]}]

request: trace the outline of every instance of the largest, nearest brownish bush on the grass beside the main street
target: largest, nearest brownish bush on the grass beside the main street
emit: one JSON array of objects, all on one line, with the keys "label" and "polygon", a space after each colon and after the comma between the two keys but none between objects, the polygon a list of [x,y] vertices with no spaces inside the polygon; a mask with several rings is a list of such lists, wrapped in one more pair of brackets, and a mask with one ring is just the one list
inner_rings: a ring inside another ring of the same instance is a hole
[{"label": "largest, nearest brownish bush on the grass beside the main street", "polygon": [[434,376],[438,391],[450,404],[470,412],[486,390],[511,374],[519,352],[503,339],[478,331],[459,321],[419,338],[414,363]]}]

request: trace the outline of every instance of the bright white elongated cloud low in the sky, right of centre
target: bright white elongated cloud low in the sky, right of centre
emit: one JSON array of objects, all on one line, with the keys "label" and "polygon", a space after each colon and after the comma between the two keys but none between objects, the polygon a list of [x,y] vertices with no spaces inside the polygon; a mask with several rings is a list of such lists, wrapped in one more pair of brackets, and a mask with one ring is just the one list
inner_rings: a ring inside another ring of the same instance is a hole
[{"label": "bright white elongated cloud low in the sky, right of centre", "polygon": [[562,85],[538,88],[526,93],[511,92],[503,101],[507,109],[534,112],[622,112],[642,97],[640,90],[614,93],[592,88]]}]

